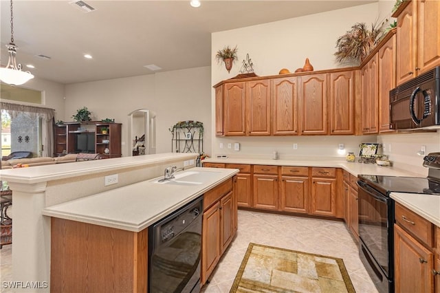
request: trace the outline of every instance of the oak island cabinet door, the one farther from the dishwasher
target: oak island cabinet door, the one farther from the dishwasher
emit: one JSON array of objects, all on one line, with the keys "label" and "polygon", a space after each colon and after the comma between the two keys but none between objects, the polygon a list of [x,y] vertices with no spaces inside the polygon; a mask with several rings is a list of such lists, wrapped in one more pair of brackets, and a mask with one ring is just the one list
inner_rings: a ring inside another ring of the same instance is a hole
[{"label": "oak island cabinet door, the one farther from the dishwasher", "polygon": [[228,248],[234,235],[234,201],[232,191],[220,199],[220,254]]}]

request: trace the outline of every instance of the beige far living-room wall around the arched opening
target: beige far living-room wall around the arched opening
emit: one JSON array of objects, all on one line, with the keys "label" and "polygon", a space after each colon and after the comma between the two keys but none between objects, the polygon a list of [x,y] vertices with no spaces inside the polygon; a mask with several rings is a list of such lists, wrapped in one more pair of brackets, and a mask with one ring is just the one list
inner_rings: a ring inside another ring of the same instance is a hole
[{"label": "beige far living-room wall around the arched opening", "polygon": [[92,120],[122,123],[122,155],[129,153],[128,114],[150,109],[157,115],[157,153],[171,151],[168,129],[180,120],[198,120],[206,128],[204,150],[210,151],[210,67],[197,67],[129,78],[65,86],[65,120],[86,106]]}]

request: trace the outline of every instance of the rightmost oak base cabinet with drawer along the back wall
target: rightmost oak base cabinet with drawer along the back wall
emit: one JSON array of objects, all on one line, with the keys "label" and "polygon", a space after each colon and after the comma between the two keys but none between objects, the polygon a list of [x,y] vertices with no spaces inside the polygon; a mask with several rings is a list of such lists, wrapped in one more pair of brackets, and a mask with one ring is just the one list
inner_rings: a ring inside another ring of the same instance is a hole
[{"label": "rightmost oak base cabinet with drawer along the back wall", "polygon": [[336,217],[336,169],[311,170],[311,214]]}]

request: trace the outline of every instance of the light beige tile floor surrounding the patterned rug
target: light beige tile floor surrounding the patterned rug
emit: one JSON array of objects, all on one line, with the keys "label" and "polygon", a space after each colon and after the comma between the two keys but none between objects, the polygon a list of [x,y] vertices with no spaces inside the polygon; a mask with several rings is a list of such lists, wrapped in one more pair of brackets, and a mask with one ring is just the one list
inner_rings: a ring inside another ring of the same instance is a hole
[{"label": "light beige tile floor surrounding the patterned rug", "polygon": [[[203,293],[229,292],[250,242],[344,260],[356,292],[376,293],[359,256],[358,247],[342,221],[311,219],[239,210],[239,229],[210,277]],[[12,246],[0,250],[0,284],[12,281]],[[9,292],[1,285],[1,292]]]}]

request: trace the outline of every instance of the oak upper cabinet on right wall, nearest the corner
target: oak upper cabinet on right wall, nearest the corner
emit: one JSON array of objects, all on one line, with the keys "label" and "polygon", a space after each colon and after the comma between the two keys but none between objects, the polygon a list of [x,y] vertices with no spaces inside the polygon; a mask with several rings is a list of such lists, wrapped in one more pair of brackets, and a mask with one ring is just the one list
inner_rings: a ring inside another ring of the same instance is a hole
[{"label": "oak upper cabinet on right wall, nearest the corner", "polygon": [[375,54],[361,69],[362,87],[362,133],[377,133],[377,62],[378,56]]}]

